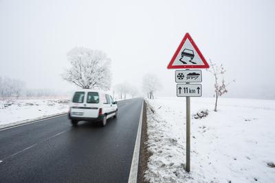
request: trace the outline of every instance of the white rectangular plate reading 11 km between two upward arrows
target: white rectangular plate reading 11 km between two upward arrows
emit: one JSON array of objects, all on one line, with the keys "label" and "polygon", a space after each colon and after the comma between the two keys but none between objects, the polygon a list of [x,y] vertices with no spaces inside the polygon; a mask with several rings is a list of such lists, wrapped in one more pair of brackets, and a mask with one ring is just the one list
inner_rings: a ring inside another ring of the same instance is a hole
[{"label": "white rectangular plate reading 11 km between two upward arrows", "polygon": [[201,97],[201,84],[177,84],[177,97]]}]

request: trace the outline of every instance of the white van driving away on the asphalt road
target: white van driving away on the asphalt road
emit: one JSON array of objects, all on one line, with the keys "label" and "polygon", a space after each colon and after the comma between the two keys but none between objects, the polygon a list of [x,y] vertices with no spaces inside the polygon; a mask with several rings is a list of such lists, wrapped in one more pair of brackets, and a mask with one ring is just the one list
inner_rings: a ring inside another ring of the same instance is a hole
[{"label": "white van driving away on the asphalt road", "polygon": [[117,102],[108,93],[100,90],[83,89],[74,92],[69,106],[72,125],[78,121],[100,121],[104,126],[110,117],[118,117]]}]

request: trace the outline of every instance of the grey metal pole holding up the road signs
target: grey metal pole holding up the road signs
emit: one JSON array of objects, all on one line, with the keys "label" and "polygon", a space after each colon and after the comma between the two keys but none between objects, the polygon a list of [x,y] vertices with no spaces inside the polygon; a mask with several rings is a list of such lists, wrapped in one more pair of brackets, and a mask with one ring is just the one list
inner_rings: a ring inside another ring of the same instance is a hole
[{"label": "grey metal pole holding up the road signs", "polygon": [[186,171],[190,172],[190,97],[186,97]]}]

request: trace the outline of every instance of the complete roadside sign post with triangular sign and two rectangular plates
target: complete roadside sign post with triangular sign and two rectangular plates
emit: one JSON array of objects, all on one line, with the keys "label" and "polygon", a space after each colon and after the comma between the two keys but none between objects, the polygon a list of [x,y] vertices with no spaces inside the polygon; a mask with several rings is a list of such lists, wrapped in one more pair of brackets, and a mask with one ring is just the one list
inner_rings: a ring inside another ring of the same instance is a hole
[{"label": "complete roadside sign post with triangular sign and two rectangular plates", "polygon": [[201,84],[190,84],[190,82],[201,82],[201,70],[189,70],[197,68],[209,68],[203,58],[201,51],[186,33],[167,69],[186,69],[175,71],[175,82],[177,84],[177,97],[186,97],[186,171],[190,172],[190,97],[201,97]]}]

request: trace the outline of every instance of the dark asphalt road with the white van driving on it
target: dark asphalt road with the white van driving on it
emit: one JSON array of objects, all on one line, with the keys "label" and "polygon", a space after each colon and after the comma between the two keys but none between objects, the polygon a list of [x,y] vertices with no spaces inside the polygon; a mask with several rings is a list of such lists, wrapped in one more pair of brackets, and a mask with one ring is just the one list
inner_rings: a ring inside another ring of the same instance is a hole
[{"label": "dark asphalt road with the white van driving on it", "polygon": [[0,131],[0,182],[128,182],[142,99],[105,127],[67,116]]}]

